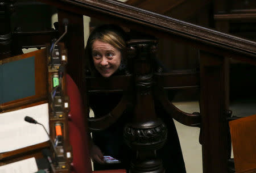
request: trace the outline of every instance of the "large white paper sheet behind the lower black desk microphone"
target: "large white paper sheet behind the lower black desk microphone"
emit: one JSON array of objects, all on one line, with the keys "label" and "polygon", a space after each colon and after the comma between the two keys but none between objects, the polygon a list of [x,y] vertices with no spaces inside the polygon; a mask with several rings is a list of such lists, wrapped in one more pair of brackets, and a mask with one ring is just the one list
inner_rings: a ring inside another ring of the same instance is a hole
[{"label": "large white paper sheet behind the lower black desk microphone", "polygon": [[18,111],[0,113],[0,153],[49,140],[43,126],[27,123],[24,121],[25,116],[30,116],[38,123],[43,124],[49,133],[48,103]]}]

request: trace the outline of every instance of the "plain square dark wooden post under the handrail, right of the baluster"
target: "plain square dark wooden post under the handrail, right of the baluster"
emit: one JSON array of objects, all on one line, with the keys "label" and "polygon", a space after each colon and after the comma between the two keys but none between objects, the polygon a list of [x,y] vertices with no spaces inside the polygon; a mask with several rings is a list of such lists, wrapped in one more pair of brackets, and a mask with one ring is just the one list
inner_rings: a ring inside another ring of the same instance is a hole
[{"label": "plain square dark wooden post under the handrail, right of the baluster", "polygon": [[203,171],[228,172],[228,66],[224,57],[200,52],[200,113]]}]

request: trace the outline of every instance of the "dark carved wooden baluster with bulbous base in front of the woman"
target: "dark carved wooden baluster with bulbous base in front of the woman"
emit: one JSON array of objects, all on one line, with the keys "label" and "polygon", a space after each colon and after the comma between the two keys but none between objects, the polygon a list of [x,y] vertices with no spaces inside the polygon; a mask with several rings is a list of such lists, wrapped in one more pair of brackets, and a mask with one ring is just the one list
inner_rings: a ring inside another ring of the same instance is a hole
[{"label": "dark carved wooden baluster with bulbous base in front of the woman", "polygon": [[167,128],[155,113],[152,96],[153,60],[155,40],[130,41],[130,50],[135,52],[134,77],[136,102],[133,123],[127,124],[124,131],[126,144],[136,151],[130,172],[164,172],[162,161],[156,158],[167,138]]}]

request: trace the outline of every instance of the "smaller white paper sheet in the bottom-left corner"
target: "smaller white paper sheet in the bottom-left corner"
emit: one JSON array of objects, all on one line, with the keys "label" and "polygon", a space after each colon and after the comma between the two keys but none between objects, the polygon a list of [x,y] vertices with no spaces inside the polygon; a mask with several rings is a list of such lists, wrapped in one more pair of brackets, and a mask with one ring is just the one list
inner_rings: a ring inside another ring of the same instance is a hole
[{"label": "smaller white paper sheet in the bottom-left corner", "polygon": [[34,173],[37,171],[38,166],[34,157],[0,166],[0,173]]}]

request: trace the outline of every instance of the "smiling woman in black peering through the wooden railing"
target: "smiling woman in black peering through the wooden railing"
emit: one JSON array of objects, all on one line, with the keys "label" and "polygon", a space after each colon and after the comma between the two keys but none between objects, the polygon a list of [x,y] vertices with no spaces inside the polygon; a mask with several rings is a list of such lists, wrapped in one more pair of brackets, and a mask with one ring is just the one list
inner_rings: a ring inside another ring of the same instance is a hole
[{"label": "smiling woman in black peering through the wooden railing", "polygon": [[[94,29],[90,34],[86,51],[89,56],[90,70],[93,75],[110,77],[125,73],[126,34],[113,25],[105,25]],[[93,94],[89,103],[96,117],[106,115],[118,104],[122,94]],[[166,115],[166,112],[158,107],[156,113]],[[131,149],[123,143],[123,127],[129,122],[132,111],[125,111],[116,123],[102,132],[93,133],[93,141],[90,142],[90,157],[94,161],[94,169],[128,169],[131,161]],[[185,172],[184,161],[181,154],[179,139],[174,122],[168,116],[162,117],[167,124],[168,140],[166,145],[158,150],[158,156],[163,160],[166,172]],[[110,155],[121,161],[120,164],[104,164],[103,154]],[[100,163],[100,164],[98,164]]]}]

